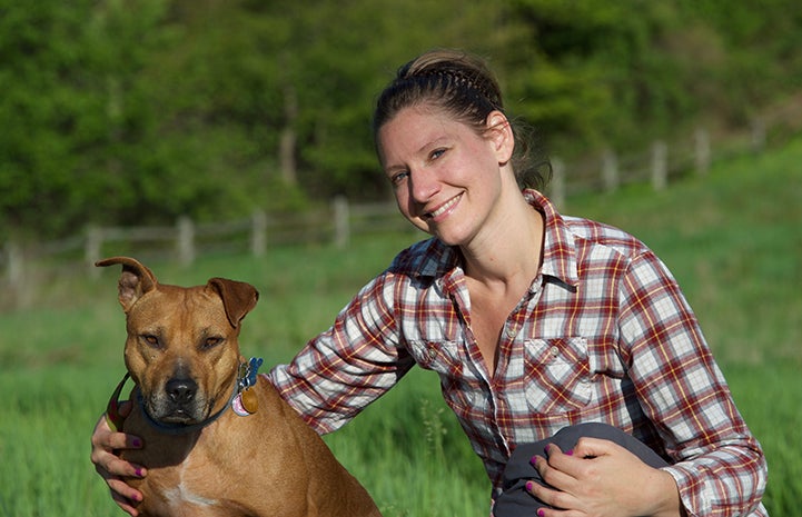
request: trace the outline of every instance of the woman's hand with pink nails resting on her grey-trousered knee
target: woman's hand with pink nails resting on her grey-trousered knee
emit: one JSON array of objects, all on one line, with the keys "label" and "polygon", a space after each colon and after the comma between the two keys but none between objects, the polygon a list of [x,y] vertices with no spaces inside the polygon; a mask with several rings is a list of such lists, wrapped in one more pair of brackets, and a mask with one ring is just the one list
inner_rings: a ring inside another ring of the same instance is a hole
[{"label": "woman's hand with pink nails resting on her grey-trousered knee", "polygon": [[617,444],[585,437],[565,454],[555,445],[546,453],[547,459],[536,456],[533,463],[554,489],[536,483],[526,488],[560,509],[541,509],[539,517],[683,515],[674,478]]}]

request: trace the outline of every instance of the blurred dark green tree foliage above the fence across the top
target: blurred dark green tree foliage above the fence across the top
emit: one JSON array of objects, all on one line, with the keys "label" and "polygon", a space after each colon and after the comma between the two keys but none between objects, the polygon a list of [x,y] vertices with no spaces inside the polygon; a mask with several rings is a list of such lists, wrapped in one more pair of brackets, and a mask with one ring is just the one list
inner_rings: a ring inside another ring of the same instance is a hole
[{"label": "blurred dark green tree foliage above the fence across the top", "polygon": [[552,149],[743,120],[799,87],[792,0],[0,0],[0,236],[388,196],[403,62],[487,57]]}]

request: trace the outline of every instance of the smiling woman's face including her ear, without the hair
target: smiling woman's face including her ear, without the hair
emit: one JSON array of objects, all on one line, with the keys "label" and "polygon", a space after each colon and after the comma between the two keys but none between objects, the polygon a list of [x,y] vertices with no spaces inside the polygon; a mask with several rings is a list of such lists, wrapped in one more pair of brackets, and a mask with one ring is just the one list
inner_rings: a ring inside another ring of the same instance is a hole
[{"label": "smiling woman's face including her ear, without the hair", "polygon": [[378,130],[382,167],[398,209],[413,225],[447,245],[466,246],[491,219],[509,160],[508,122],[499,112],[486,136],[442,110],[405,108]]}]

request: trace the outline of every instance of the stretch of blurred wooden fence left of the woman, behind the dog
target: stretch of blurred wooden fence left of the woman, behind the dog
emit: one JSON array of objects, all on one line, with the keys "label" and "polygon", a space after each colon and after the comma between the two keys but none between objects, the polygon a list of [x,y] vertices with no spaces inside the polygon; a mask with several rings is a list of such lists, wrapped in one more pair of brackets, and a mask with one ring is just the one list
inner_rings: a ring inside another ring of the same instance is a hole
[{"label": "stretch of blurred wooden fence left of the woman, behind the dog", "polygon": [[264,256],[270,247],[330,243],[348,246],[353,236],[418,231],[395,202],[352,205],[335,198],[330,206],[304,213],[268,215],[222,222],[196,222],[179,218],[172,226],[91,226],[67,239],[28,245],[6,243],[1,250],[0,310],[24,307],[42,291],[42,285],[83,271],[96,278],[93,264],[105,257],[129,255],[143,260],[175,260],[189,266],[199,256],[251,253]]}]

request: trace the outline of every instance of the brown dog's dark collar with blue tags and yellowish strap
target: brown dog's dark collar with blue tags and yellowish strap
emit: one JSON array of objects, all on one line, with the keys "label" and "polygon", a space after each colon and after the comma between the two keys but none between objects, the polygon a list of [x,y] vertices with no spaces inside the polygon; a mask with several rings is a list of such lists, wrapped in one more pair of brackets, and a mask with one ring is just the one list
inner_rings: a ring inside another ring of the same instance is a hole
[{"label": "brown dog's dark collar with blue tags and yellowish strap", "polygon": [[[226,412],[226,409],[229,408],[229,406],[239,416],[253,415],[254,412],[256,412],[258,404],[256,394],[254,391],[250,391],[250,387],[256,386],[257,374],[263,359],[260,357],[251,357],[248,362],[241,362],[239,365],[239,371],[237,372],[237,381],[234,384],[234,390],[228,399],[228,402],[226,402],[226,405],[224,405],[219,411],[198,424],[192,424],[190,426],[181,424],[169,425],[155,420],[145,408],[145,399],[142,397],[141,390],[137,390],[137,402],[139,404],[139,407],[142,410],[142,415],[145,415],[145,419],[148,421],[148,424],[150,424],[151,427],[158,429],[159,431],[168,435],[184,435],[200,430],[220,418],[222,414]],[[109,424],[111,430],[115,431],[122,429],[122,422],[125,420],[125,417],[120,415],[120,394],[122,392],[122,387],[126,385],[126,381],[128,381],[131,375],[129,372],[126,372],[120,384],[117,385],[113,394],[111,394],[109,404],[106,407],[106,421]]]}]

